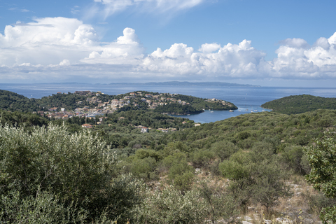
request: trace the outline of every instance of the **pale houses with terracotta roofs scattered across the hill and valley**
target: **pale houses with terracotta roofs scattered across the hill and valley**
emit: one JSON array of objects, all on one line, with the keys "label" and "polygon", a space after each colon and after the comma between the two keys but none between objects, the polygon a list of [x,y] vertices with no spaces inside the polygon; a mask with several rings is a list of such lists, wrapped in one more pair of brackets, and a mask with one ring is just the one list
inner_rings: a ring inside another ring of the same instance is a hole
[{"label": "pale houses with terracotta roofs scattered across the hill and valley", "polygon": [[[65,94],[62,92],[57,92],[57,94]],[[68,93],[69,94],[69,93]],[[85,124],[81,125],[83,128],[93,128],[94,125],[101,125],[104,119],[109,113],[115,113],[116,111],[123,109],[125,106],[131,106],[134,109],[148,109],[154,110],[158,106],[165,106],[167,104],[179,104],[181,106],[190,105],[190,102],[186,100],[179,99],[179,94],[150,94],[143,92],[130,92],[127,94],[119,94],[114,99],[109,101],[102,101],[102,96],[104,93],[97,91],[76,91],[73,94],[85,97],[85,100],[79,100],[76,102],[76,109],[69,110],[65,107],[51,107],[48,111],[38,111],[37,113],[41,116],[49,118],[50,120],[60,120],[69,119],[72,117],[85,118]],[[223,105],[232,106],[230,103],[225,102],[221,99],[205,99],[206,102],[219,102]],[[165,115],[170,115],[172,113],[162,113]],[[174,113],[173,113],[174,114]],[[118,118],[118,120],[124,119],[123,117]],[[90,124],[89,124],[90,123]],[[183,122],[186,123],[186,122]],[[92,125],[94,124],[94,125]],[[196,123],[195,126],[199,126]],[[151,130],[151,127],[143,127],[141,125],[135,126],[134,128],[139,128],[141,133],[146,133]],[[160,132],[175,132],[176,128],[158,128]]]}]

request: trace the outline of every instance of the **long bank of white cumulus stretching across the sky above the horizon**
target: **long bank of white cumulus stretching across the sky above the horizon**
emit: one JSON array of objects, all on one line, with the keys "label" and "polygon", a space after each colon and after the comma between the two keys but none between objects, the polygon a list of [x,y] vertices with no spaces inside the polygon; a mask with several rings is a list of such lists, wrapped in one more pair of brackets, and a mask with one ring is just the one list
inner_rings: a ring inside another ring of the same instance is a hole
[{"label": "long bank of white cumulus stretching across the sky above the horizon", "polygon": [[265,52],[248,40],[204,43],[198,50],[174,43],[169,49],[146,53],[132,28],[125,28],[116,40],[101,43],[94,28],[80,20],[36,18],[8,25],[0,34],[0,80],[336,78],[336,33],[318,38],[313,45],[302,38],[279,43],[272,61],[266,61]]}]

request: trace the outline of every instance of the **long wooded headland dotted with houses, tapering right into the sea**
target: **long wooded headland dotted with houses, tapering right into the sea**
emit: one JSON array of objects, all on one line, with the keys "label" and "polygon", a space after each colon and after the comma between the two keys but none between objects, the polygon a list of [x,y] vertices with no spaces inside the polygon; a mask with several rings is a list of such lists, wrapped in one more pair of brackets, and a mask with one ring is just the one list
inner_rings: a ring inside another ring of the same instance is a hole
[{"label": "long wooded headland dotted with houses, tapering right into the sea", "polygon": [[[116,108],[115,106],[118,106]],[[235,110],[237,106],[221,99],[202,99],[183,94],[137,91],[109,95],[102,92],[59,92],[41,99],[27,98],[15,92],[0,90],[0,109],[7,111],[75,111],[78,108],[104,111],[155,110],[160,113],[202,113],[204,109]]]}]

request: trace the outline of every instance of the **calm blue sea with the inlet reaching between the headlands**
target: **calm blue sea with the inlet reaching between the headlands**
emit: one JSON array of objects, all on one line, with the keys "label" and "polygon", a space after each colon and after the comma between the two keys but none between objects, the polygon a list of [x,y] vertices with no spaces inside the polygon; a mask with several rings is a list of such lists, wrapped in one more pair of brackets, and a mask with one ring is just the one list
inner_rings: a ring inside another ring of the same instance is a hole
[{"label": "calm blue sea with the inlet reaching between the headlands", "polygon": [[202,98],[216,98],[235,104],[238,109],[230,111],[204,111],[204,113],[179,116],[194,120],[195,123],[211,123],[224,120],[245,113],[262,113],[270,111],[262,109],[260,105],[274,99],[290,95],[311,94],[318,97],[336,97],[336,88],[330,87],[262,87],[262,86],[214,86],[214,85],[160,85],[141,83],[37,83],[37,84],[4,84],[0,83],[0,90],[8,90],[22,94],[29,98],[41,98],[57,94],[57,92],[75,92],[80,90],[102,91],[104,94],[124,94],[127,92],[169,92],[186,94]]}]

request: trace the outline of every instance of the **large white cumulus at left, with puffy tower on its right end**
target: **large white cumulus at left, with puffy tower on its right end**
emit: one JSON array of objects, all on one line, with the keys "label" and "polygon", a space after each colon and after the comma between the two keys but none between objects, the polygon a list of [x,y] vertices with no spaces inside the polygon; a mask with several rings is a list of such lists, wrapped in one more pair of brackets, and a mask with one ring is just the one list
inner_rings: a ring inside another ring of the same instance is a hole
[{"label": "large white cumulus at left, with puffy tower on its right end", "polygon": [[[92,26],[69,18],[37,18],[28,24],[6,26],[4,34],[0,34],[0,49],[0,64],[8,66],[65,62],[120,64],[131,56],[143,57],[144,53],[134,29],[126,28],[116,41],[102,44]],[[120,62],[118,57],[124,61]]]}]

